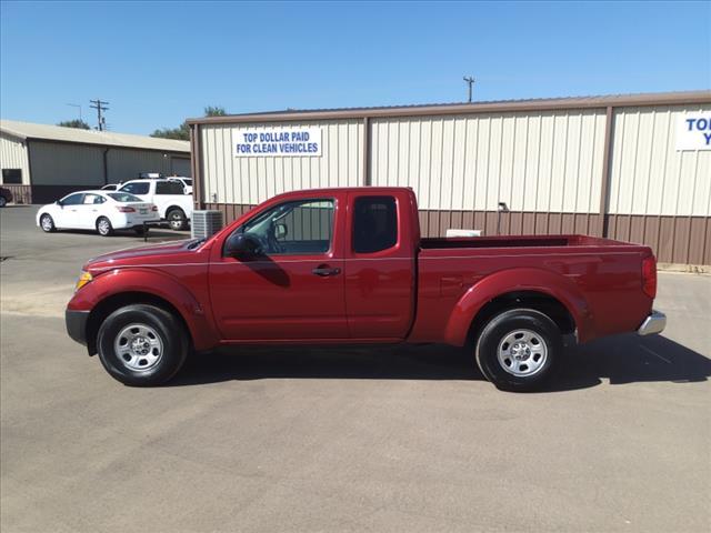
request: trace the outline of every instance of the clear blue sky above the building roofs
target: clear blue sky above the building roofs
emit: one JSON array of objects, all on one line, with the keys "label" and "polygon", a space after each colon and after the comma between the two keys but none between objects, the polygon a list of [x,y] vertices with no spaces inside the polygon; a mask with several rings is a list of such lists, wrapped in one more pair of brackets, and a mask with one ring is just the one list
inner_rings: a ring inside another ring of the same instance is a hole
[{"label": "clear blue sky above the building roofs", "polygon": [[711,88],[711,2],[6,2],[2,118],[150,133],[240,113]]}]

